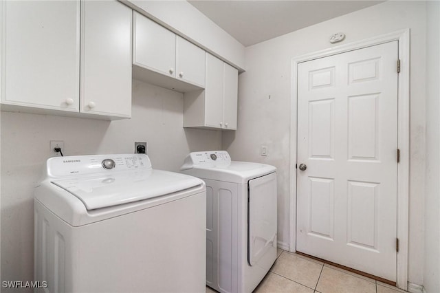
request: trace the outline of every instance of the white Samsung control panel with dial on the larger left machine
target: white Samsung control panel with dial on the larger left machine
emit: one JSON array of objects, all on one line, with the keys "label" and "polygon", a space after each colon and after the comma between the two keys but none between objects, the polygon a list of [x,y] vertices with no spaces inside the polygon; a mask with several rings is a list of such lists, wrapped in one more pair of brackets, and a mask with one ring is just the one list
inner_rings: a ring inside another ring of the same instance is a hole
[{"label": "white Samsung control panel with dial on the larger left machine", "polygon": [[111,171],[151,169],[151,162],[145,154],[122,155],[75,155],[54,157],[47,160],[47,175],[68,177],[91,175]]}]

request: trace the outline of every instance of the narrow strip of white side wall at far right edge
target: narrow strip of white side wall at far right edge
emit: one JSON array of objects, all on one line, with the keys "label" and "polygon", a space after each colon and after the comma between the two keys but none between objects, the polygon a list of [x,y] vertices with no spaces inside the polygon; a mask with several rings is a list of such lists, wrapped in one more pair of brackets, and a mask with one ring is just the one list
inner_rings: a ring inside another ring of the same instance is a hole
[{"label": "narrow strip of white side wall at far right edge", "polygon": [[427,11],[426,199],[423,286],[440,292],[440,2]]}]

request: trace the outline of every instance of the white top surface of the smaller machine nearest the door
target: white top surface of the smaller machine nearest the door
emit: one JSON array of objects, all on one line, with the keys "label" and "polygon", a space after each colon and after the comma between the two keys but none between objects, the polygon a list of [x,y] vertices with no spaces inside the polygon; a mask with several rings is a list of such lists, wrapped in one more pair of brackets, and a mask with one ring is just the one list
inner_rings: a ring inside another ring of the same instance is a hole
[{"label": "white top surface of the smaller machine nearest the door", "polygon": [[228,162],[225,164],[199,165],[182,173],[202,179],[247,184],[249,180],[274,173],[276,168],[267,164],[250,162]]}]

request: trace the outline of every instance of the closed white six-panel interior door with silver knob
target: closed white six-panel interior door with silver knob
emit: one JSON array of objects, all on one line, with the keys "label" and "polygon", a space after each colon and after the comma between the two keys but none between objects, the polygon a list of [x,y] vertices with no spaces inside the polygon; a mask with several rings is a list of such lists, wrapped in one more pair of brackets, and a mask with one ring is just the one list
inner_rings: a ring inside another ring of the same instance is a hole
[{"label": "closed white six-panel interior door with silver knob", "polygon": [[397,46],[393,41],[298,65],[296,250],[391,281]]}]

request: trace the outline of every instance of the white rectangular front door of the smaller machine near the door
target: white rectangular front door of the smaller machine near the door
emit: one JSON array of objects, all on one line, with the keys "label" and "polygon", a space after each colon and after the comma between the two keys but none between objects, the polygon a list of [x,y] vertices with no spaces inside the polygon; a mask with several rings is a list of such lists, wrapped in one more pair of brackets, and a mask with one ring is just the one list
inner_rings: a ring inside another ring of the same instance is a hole
[{"label": "white rectangular front door of the smaller machine near the door", "polygon": [[276,248],[276,173],[249,180],[248,262]]}]

